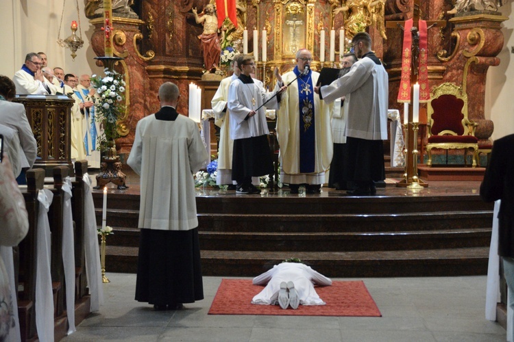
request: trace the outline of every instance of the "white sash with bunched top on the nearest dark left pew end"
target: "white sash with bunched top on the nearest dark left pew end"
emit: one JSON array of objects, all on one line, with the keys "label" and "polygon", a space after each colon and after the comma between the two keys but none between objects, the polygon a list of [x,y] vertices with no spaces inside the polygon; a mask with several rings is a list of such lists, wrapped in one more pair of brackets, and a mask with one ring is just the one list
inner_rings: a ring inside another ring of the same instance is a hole
[{"label": "white sash with bunched top on the nearest dark left pew end", "polygon": [[40,341],[53,341],[53,294],[50,273],[51,233],[48,211],[53,194],[39,190],[38,228],[36,231],[36,330]]}]

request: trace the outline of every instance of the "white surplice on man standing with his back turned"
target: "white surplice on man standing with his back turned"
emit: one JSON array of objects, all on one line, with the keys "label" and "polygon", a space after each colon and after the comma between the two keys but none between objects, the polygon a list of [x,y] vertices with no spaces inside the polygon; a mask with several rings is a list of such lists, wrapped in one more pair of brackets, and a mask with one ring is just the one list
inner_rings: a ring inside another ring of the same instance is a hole
[{"label": "white surplice on man standing with his back turned", "polygon": [[197,124],[183,115],[139,120],[127,164],[140,175],[139,228],[188,231],[198,226],[193,173],[209,155]]}]

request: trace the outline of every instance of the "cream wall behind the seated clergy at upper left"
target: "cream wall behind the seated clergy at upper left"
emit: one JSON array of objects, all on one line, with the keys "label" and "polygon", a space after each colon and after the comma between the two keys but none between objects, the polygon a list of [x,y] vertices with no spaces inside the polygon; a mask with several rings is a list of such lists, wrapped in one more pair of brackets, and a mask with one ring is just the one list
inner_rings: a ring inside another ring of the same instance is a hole
[{"label": "cream wall behind the seated clergy at upper left", "polygon": [[[93,60],[96,55],[89,46],[88,36],[93,33],[93,26],[90,26],[84,15],[85,1],[78,1],[84,47],[77,50],[77,57],[73,61],[70,49],[60,47],[57,43],[64,1],[1,0],[0,74],[12,77],[25,62],[27,53],[39,51],[47,54],[51,68],[60,66],[65,73],[101,73],[101,68]],[[73,20],[78,22],[77,5],[75,0],[68,0],[62,19],[61,39],[71,35],[70,26]],[[79,35],[77,31],[77,36]]]}]

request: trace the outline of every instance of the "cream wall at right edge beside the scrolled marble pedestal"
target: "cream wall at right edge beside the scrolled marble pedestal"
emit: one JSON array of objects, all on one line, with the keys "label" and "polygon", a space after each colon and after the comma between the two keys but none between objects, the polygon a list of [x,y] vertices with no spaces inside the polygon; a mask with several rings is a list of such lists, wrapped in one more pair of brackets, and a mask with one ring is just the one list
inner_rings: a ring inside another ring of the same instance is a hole
[{"label": "cream wall at right edge beside the scrolled marble pedestal", "polygon": [[514,3],[508,1],[500,8],[509,20],[502,23],[504,47],[498,55],[499,66],[490,67],[485,84],[485,118],[493,120],[493,140],[514,133]]}]

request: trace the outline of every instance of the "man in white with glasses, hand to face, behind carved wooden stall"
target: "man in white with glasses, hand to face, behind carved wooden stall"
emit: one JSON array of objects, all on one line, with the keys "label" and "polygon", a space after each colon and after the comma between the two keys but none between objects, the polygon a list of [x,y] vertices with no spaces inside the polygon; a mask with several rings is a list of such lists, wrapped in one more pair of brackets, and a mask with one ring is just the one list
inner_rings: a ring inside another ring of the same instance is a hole
[{"label": "man in white with glasses, hand to face, behind carved wooden stall", "polygon": [[34,52],[27,53],[25,64],[16,71],[12,78],[16,86],[16,94],[52,94],[51,83],[45,79],[41,68],[42,62],[39,55]]}]

